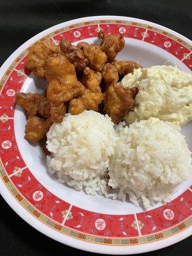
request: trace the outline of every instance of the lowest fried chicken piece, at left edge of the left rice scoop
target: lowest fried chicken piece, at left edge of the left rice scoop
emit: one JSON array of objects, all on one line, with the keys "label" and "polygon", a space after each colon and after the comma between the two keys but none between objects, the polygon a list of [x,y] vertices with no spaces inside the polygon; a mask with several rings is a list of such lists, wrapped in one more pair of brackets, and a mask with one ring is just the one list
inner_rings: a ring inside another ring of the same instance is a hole
[{"label": "lowest fried chicken piece, at left edge of the left rice scoop", "polygon": [[24,138],[31,142],[38,142],[42,140],[46,132],[52,125],[50,118],[45,120],[44,118],[39,118],[38,116],[33,116],[28,119],[26,124],[26,135]]}]

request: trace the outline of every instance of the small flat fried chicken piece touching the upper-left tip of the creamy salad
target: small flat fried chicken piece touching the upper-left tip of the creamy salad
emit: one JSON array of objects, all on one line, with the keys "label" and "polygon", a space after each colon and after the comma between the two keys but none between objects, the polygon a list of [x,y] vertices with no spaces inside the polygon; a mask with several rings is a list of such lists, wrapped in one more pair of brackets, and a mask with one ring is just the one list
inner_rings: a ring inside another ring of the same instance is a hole
[{"label": "small flat fried chicken piece touching the upper-left tip of the creamy salad", "polygon": [[142,68],[142,66],[131,60],[115,60],[111,62],[118,69],[119,76],[125,76],[132,73],[134,69]]}]

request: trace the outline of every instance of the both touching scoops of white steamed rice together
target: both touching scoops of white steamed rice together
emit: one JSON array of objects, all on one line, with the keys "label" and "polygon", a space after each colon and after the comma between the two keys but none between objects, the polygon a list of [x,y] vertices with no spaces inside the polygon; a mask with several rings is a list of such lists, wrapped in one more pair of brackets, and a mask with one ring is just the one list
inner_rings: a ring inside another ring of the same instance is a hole
[{"label": "both touching scoops of white steamed rice together", "polygon": [[[145,208],[168,202],[175,187],[192,172],[191,152],[180,127],[158,118],[125,126],[108,115],[84,111],[66,114],[47,132],[49,173],[86,193]],[[112,189],[109,189],[109,186]]]}]

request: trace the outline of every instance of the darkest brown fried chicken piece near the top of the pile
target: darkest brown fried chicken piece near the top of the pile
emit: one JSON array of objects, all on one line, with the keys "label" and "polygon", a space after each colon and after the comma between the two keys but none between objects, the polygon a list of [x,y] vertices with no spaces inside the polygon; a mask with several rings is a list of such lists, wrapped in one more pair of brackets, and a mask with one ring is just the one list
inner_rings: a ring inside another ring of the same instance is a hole
[{"label": "darkest brown fried chicken piece near the top of the pile", "polygon": [[60,49],[70,63],[74,65],[76,71],[84,70],[88,65],[88,60],[84,58],[83,51],[81,51],[77,46],[70,44],[66,39],[61,40]]}]

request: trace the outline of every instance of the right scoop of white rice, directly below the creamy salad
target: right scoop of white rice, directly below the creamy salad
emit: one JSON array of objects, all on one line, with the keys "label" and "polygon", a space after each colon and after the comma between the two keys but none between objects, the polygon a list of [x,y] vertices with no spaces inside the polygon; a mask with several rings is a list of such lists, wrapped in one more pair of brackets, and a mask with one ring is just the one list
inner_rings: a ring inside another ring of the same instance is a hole
[{"label": "right scoop of white rice, directly below the creamy salad", "polygon": [[171,192],[192,173],[191,152],[179,125],[149,118],[116,126],[119,139],[109,164],[109,186],[118,188],[118,198],[126,195],[145,208],[170,200]]}]

